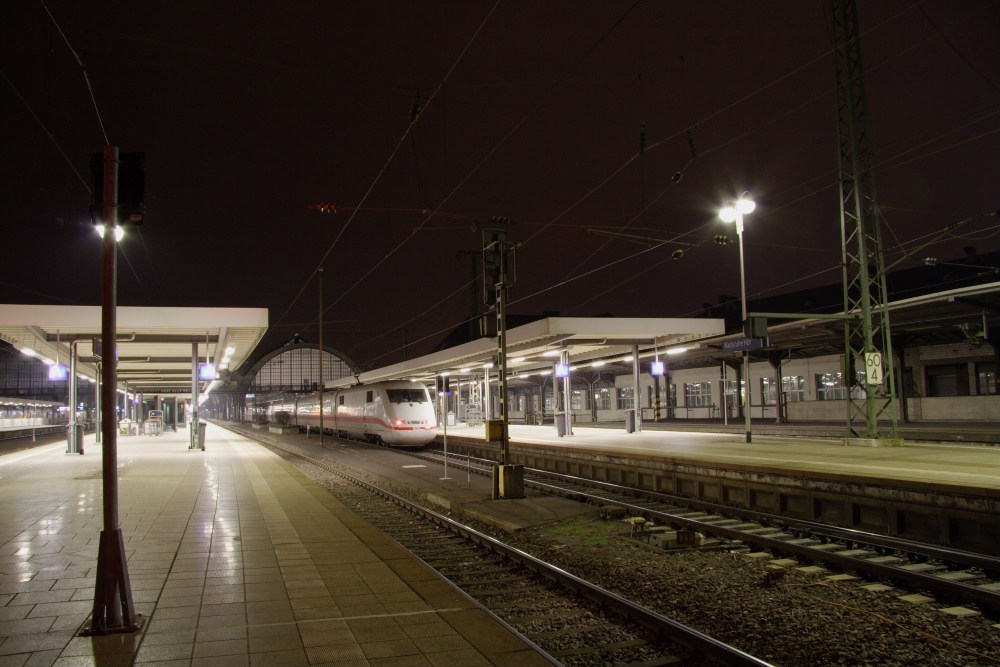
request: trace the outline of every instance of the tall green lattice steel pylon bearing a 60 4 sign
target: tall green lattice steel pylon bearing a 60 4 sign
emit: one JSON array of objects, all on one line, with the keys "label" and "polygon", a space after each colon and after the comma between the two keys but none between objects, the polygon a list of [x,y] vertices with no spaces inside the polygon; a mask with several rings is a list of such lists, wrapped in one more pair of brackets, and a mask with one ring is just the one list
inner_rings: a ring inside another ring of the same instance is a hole
[{"label": "tall green lattice steel pylon bearing a 60 4 sign", "polygon": [[[844,382],[848,438],[900,444],[889,334],[888,295],[868,124],[861,38],[854,0],[832,0],[839,146],[840,235],[844,280]],[[855,363],[864,364],[859,382]],[[859,390],[860,389],[860,390]],[[860,431],[864,419],[864,432]]]}]

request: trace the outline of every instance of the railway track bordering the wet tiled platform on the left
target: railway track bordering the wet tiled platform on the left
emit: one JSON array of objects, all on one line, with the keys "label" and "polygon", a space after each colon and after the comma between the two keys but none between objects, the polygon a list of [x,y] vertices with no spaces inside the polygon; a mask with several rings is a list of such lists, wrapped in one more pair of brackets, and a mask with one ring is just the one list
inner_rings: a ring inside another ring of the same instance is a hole
[{"label": "railway track bordering the wet tiled platform on the left", "polygon": [[381,488],[318,458],[318,452],[255,439],[321,471],[327,488],[348,507],[440,572],[553,664],[769,664]]}]

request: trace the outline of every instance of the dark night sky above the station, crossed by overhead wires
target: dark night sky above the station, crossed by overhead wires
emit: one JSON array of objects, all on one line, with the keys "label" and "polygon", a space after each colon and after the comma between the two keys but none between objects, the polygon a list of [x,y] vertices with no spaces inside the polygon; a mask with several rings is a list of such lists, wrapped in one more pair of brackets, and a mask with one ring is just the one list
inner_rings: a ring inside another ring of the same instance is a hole
[{"label": "dark night sky above the station, crossed by overhead wires", "polygon": [[[887,263],[1000,249],[1000,4],[858,6]],[[520,242],[511,313],[690,317],[738,295],[737,245],[713,236],[735,241],[716,214],[744,190],[749,295],[836,282],[828,15],[6,0],[0,302],[100,303],[105,143],[146,154],[119,303],[267,307],[267,349],[316,340],[323,267],[327,348],[362,367],[428,351],[469,316],[493,216]]]}]

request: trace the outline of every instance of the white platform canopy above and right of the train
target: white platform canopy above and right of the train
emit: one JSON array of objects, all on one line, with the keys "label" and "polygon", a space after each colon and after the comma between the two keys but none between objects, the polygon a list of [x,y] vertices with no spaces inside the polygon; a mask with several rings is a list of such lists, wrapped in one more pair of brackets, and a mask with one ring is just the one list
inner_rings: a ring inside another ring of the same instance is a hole
[{"label": "white platform canopy above and right of the train", "polygon": [[[515,376],[551,372],[562,352],[573,366],[621,362],[636,347],[640,357],[676,348],[697,348],[699,341],[725,334],[721,319],[653,317],[548,317],[507,331],[507,368]],[[328,382],[328,388],[393,379],[428,380],[435,375],[461,375],[494,363],[496,338],[480,338],[377,370],[357,378]]]}]

